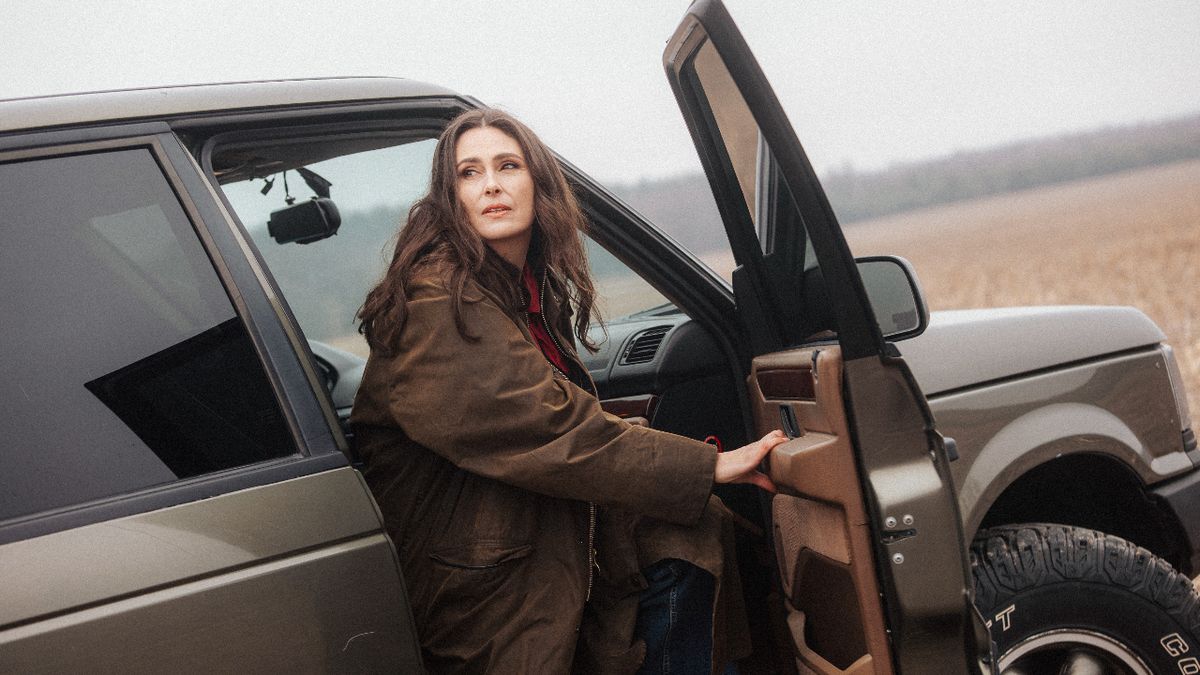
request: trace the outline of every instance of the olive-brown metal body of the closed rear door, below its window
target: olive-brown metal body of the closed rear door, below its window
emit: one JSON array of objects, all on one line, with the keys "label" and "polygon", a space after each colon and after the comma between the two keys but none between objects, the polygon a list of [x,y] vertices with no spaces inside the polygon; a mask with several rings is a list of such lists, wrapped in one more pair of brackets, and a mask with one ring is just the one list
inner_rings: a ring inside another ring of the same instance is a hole
[{"label": "olive-brown metal body of the closed rear door, below its window", "polygon": [[416,670],[367,496],[343,467],[10,543],[0,671]]}]

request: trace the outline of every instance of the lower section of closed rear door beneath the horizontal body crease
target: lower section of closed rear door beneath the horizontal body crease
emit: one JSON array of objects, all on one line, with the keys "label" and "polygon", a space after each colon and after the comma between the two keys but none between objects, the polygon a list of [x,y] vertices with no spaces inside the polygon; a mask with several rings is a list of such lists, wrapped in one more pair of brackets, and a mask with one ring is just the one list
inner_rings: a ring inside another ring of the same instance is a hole
[{"label": "lower section of closed rear door beneath the horizontal body crease", "polygon": [[374,534],[23,626],[11,632],[0,669],[416,671],[415,650],[397,640],[397,617],[380,611],[379,601],[401,601],[398,585],[377,584],[391,557],[388,538]]}]

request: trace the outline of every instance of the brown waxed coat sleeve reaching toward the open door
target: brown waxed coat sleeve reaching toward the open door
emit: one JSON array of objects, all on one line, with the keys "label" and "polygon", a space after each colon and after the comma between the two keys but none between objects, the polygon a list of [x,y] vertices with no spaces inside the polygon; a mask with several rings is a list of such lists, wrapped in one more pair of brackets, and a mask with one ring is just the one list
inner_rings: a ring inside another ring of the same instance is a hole
[{"label": "brown waxed coat sleeve reaching toward the open door", "polygon": [[472,473],[554,497],[691,524],[713,485],[712,446],[630,425],[556,378],[538,347],[491,297],[463,301],[472,335],[455,327],[449,291],[414,285],[398,348],[372,356],[379,411],[413,441]]}]

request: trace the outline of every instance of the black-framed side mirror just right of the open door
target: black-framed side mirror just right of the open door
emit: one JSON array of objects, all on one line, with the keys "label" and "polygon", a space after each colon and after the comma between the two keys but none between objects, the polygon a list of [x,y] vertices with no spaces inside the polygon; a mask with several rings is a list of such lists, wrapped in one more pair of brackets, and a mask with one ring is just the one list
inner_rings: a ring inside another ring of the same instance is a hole
[{"label": "black-framed side mirror just right of the open door", "polygon": [[854,258],[875,321],[886,340],[916,338],[929,325],[929,309],[912,264],[896,256]]}]

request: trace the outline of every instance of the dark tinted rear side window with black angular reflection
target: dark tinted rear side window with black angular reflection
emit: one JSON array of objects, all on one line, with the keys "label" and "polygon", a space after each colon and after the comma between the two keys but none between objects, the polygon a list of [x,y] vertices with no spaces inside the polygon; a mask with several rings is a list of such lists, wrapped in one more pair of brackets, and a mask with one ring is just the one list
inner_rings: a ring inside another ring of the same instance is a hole
[{"label": "dark tinted rear side window with black angular reflection", "polygon": [[0,521],[295,454],[148,149],[0,165]]}]

